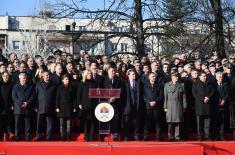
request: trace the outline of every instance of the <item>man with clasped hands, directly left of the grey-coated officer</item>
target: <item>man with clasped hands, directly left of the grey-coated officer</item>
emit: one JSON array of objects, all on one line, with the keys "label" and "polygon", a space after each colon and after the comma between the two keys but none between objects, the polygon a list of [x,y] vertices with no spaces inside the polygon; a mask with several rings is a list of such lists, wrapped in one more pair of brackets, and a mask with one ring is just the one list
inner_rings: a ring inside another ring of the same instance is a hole
[{"label": "man with clasped hands, directly left of the grey-coated officer", "polygon": [[154,124],[156,140],[160,140],[161,119],[163,112],[163,85],[158,82],[155,73],[150,73],[144,85],[144,102],[146,107],[144,140],[148,140],[151,124]]}]

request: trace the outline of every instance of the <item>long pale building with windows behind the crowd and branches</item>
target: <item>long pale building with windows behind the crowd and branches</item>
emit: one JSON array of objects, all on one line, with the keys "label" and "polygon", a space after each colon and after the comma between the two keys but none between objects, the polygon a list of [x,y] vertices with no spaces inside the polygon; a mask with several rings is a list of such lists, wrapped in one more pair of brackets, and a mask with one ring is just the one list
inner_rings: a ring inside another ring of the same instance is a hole
[{"label": "long pale building with windows behind the crowd and branches", "polygon": [[[92,22],[91,19],[0,16],[0,47],[6,52],[45,56],[57,49],[74,54],[86,49],[94,55],[135,52],[135,42],[123,35],[128,33],[128,27],[126,20]],[[161,50],[156,36],[149,37],[146,46],[149,50]]]}]

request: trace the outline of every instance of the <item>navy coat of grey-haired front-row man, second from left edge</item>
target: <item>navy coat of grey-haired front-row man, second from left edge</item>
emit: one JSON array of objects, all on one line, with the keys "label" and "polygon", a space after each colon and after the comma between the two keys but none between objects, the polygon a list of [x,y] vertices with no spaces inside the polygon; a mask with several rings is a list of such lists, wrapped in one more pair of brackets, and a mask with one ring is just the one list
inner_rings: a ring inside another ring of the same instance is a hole
[{"label": "navy coat of grey-haired front-row man, second from left edge", "polygon": [[[12,99],[14,102],[14,114],[28,115],[33,107],[34,101],[34,86],[32,84],[26,84],[22,86],[21,84],[16,84],[12,90]],[[28,106],[22,108],[22,103],[27,102]]]}]

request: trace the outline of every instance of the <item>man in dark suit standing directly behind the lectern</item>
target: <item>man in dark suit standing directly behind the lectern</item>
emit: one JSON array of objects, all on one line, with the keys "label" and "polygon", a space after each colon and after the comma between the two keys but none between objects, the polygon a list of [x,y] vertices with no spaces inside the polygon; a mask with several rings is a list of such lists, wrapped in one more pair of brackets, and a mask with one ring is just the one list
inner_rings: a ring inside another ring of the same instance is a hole
[{"label": "man in dark suit standing directly behind the lectern", "polygon": [[[104,78],[104,88],[108,89],[118,89],[122,88],[122,81],[120,78],[116,76],[116,69],[114,67],[110,67],[108,69],[108,76]],[[114,117],[111,120],[111,128],[112,128],[112,133],[113,133],[113,139],[115,141],[118,140],[118,132],[119,132],[119,126],[120,126],[120,114],[121,114],[121,107],[122,107],[122,92],[120,98],[110,98],[108,102],[113,106],[114,108]]]}]

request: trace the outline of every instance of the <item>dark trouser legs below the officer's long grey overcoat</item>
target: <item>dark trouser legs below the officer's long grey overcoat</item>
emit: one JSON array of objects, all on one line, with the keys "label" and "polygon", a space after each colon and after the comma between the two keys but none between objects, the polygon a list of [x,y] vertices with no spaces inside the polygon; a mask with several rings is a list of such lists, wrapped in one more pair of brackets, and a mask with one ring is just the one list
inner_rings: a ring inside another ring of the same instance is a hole
[{"label": "dark trouser legs below the officer's long grey overcoat", "polygon": [[168,123],[168,139],[181,140],[182,123]]}]

